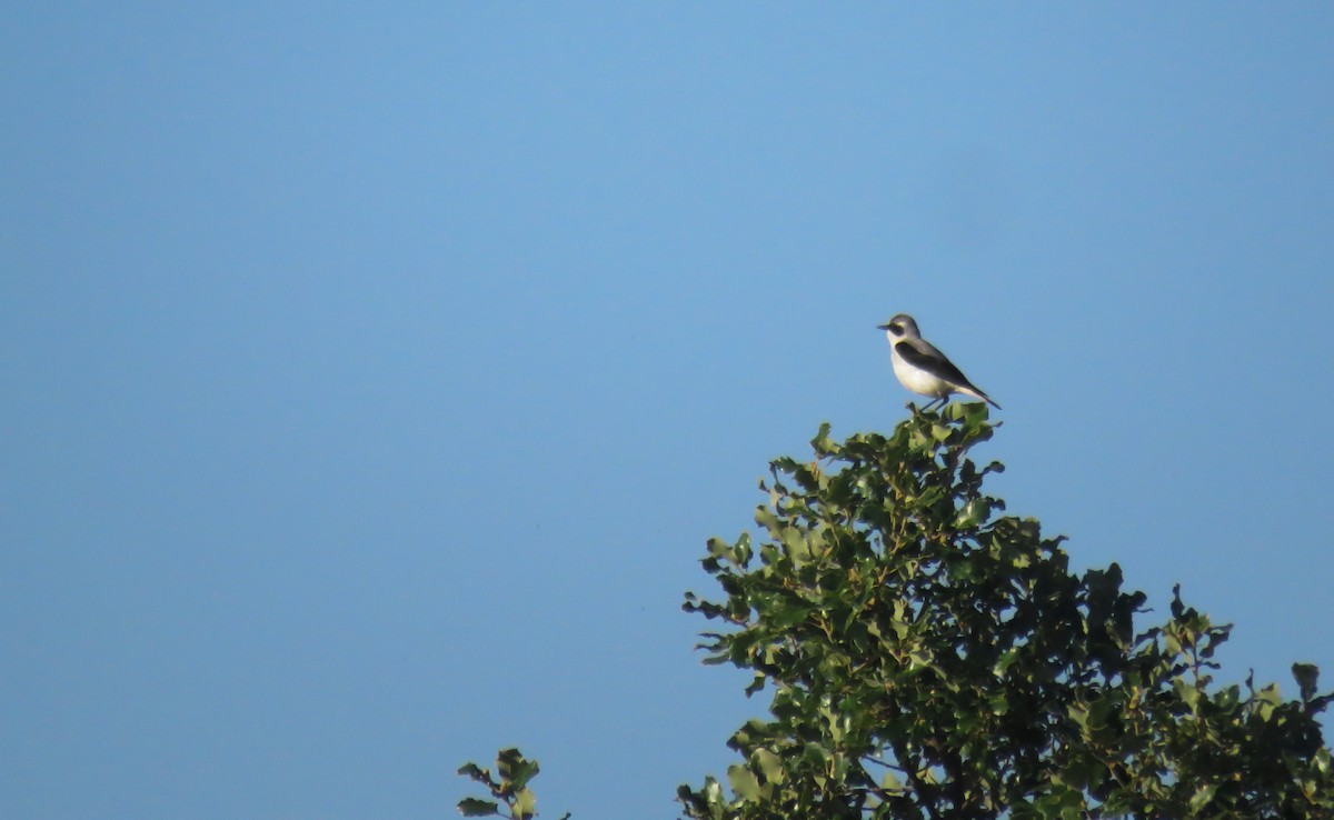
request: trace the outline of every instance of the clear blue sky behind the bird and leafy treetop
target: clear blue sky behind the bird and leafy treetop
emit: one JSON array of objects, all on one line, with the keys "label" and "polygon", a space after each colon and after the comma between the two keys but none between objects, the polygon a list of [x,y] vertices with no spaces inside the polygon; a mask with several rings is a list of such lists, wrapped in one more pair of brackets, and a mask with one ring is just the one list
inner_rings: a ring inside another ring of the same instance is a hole
[{"label": "clear blue sky behind the bird and leafy treetop", "polygon": [[899,311],[1010,512],[1334,683],[1329,4],[0,17],[5,817],[675,816],[704,540]]}]

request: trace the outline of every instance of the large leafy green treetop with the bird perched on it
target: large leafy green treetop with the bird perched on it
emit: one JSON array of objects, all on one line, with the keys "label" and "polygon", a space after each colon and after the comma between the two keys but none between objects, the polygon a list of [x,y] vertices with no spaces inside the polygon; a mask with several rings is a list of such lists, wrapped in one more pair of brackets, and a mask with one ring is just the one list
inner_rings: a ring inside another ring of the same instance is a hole
[{"label": "large leafy green treetop with the bird perched on it", "polygon": [[[1174,593],[1143,628],[1121,569],[1070,572],[1061,539],[1000,515],[970,449],[982,404],[779,459],[760,537],[714,539],[706,663],[771,693],[742,761],[680,787],[692,819],[1334,817],[1317,715],[1275,685],[1213,687],[1227,627]],[[758,541],[758,543],[756,543]]]}]

